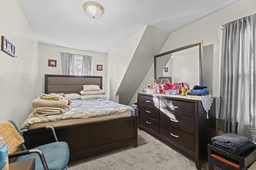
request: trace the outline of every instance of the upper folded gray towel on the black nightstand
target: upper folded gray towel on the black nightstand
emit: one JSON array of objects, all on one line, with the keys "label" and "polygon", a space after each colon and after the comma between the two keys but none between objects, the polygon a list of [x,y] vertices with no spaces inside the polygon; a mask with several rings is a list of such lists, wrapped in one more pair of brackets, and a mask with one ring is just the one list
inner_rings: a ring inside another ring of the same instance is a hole
[{"label": "upper folded gray towel on the black nightstand", "polygon": [[249,139],[247,137],[234,133],[225,133],[212,138],[213,144],[230,148],[232,150],[236,150],[238,147],[248,143],[248,141]]}]

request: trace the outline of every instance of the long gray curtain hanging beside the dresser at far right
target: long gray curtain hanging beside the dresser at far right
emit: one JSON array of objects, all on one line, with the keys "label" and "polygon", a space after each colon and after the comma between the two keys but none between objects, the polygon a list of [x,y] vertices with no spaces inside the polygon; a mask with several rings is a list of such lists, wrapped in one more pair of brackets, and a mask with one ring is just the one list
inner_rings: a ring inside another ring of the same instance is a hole
[{"label": "long gray curtain hanging beside the dresser at far right", "polygon": [[256,14],[223,25],[219,127],[256,141]]}]

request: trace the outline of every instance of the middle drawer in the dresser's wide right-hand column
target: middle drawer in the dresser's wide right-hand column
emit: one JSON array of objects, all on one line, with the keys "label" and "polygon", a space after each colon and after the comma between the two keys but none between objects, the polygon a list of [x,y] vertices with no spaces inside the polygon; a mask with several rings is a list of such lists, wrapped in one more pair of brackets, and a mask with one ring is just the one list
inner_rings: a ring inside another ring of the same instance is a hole
[{"label": "middle drawer in the dresser's wide right-hand column", "polygon": [[160,110],[160,122],[195,135],[195,119],[166,110]]}]

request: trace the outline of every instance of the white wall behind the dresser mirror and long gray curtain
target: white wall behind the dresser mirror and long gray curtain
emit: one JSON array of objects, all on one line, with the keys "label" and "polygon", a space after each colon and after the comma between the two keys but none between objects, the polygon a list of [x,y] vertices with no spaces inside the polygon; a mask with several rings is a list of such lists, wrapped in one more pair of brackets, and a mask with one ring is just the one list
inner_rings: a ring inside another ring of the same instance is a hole
[{"label": "white wall behind the dresser mirror and long gray curtain", "polygon": [[[164,53],[166,51],[170,51],[172,49],[176,49],[182,47],[184,45],[188,45],[191,43],[195,43],[198,41],[203,41],[203,46],[213,45],[213,54],[203,54],[213,56],[210,63],[213,65],[213,70],[207,70],[209,67],[206,64],[209,64],[207,60],[204,60],[204,77],[210,76],[212,78],[212,94],[216,98],[216,116],[218,116],[218,102],[219,102],[219,90],[220,90],[220,44],[219,44],[219,30],[220,26],[230,21],[237,20],[239,18],[249,16],[251,14],[256,13],[256,1],[255,0],[240,0],[214,14],[211,14],[201,20],[198,20],[186,27],[183,27],[173,33],[171,33],[170,37],[166,41],[160,53]],[[172,24],[172,23],[170,23]],[[206,58],[206,57],[205,57]],[[137,92],[141,92],[141,89],[149,78],[154,76],[154,65],[152,64],[148,74],[145,76],[144,80]],[[209,77],[207,77],[209,78]],[[206,79],[206,78],[204,78]],[[207,84],[207,82],[204,82]],[[134,96],[138,96],[137,92]],[[130,101],[132,104],[136,101]]]}]

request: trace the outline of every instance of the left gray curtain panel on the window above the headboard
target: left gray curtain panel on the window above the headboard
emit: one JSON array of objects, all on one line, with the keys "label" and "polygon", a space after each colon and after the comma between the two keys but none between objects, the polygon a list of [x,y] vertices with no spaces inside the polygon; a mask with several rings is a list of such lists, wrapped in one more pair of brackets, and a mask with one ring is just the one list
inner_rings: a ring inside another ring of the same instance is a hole
[{"label": "left gray curtain panel on the window above the headboard", "polygon": [[74,54],[60,53],[62,74],[74,75]]}]

